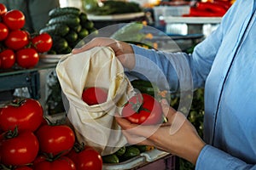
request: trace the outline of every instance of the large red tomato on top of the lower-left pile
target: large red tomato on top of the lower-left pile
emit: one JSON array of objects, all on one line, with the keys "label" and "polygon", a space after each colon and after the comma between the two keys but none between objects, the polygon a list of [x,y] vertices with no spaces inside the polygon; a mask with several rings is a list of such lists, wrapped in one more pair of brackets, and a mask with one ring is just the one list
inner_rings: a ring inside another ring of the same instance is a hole
[{"label": "large red tomato on top of the lower-left pile", "polygon": [[0,110],[0,128],[34,132],[43,121],[43,108],[36,99],[15,99]]}]

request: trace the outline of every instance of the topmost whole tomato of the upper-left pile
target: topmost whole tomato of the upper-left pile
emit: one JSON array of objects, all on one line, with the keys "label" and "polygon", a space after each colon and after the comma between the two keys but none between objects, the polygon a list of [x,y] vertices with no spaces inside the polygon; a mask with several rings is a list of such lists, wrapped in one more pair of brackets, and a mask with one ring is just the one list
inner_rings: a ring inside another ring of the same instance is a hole
[{"label": "topmost whole tomato of the upper-left pile", "polygon": [[25,15],[18,9],[12,9],[3,14],[3,23],[10,30],[19,30],[25,25]]}]

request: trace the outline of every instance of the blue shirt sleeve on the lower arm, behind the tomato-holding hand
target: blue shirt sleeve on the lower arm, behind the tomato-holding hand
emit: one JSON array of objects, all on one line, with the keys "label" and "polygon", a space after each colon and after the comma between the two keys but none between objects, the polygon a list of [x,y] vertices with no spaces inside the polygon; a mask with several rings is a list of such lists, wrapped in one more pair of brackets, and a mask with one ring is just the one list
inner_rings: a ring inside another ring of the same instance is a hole
[{"label": "blue shirt sleeve on the lower arm, behind the tomato-holding hand", "polygon": [[196,161],[195,170],[199,169],[256,169],[256,165],[247,164],[240,159],[230,156],[222,150],[212,147],[211,145],[206,145]]}]

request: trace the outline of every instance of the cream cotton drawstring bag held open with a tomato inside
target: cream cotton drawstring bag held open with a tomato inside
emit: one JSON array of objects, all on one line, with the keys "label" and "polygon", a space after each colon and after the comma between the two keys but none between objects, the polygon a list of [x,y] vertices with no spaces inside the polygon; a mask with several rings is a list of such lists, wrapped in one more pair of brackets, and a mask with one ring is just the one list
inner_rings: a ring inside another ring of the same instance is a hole
[{"label": "cream cotton drawstring bag held open with a tomato inside", "polygon": [[[114,114],[122,110],[133,95],[131,82],[112,48],[96,47],[79,54],[64,55],[56,66],[63,103],[79,143],[93,146],[102,156],[112,154],[126,144]],[[108,89],[108,100],[87,105],[84,88]]]}]

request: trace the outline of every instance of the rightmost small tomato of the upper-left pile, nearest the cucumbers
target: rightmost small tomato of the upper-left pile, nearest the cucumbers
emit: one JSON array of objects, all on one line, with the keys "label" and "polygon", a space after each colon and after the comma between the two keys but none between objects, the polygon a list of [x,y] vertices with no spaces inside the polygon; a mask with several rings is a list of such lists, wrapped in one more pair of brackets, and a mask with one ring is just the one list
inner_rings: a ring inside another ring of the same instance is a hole
[{"label": "rightmost small tomato of the upper-left pile, nearest the cucumbers", "polygon": [[48,33],[44,32],[36,37],[32,37],[32,45],[38,51],[38,53],[44,53],[49,51],[52,47],[52,38]]}]

